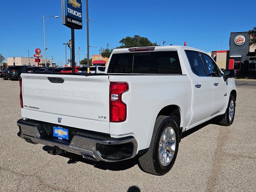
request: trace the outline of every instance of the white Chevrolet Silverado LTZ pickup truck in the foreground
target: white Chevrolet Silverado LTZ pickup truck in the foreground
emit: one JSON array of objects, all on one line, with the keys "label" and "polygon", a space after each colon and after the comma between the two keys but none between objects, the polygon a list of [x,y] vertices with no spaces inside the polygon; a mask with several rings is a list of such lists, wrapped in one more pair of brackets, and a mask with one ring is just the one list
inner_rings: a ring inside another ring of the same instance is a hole
[{"label": "white Chevrolet Silverado LTZ pickup truck in the foreground", "polygon": [[232,124],[235,75],[186,46],[115,49],[104,74],[22,73],[18,136],[53,154],[136,156],[145,172],[164,175],[182,132],[213,118]]}]

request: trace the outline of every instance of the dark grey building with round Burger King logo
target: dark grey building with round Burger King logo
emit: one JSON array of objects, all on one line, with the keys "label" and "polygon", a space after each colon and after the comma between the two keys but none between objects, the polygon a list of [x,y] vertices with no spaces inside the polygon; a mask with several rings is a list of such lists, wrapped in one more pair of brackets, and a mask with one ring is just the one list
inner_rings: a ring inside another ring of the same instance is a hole
[{"label": "dark grey building with round Burger King logo", "polygon": [[230,53],[228,68],[235,69],[238,75],[256,75],[256,47],[250,46],[248,32],[230,33]]}]

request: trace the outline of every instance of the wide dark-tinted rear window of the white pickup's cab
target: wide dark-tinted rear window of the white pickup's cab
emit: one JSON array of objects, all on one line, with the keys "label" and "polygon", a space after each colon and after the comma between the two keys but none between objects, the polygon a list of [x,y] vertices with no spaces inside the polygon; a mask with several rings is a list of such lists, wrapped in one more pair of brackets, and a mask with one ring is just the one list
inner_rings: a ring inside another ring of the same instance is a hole
[{"label": "wide dark-tinted rear window of the white pickup's cab", "polygon": [[177,51],[113,54],[108,73],[182,74]]}]

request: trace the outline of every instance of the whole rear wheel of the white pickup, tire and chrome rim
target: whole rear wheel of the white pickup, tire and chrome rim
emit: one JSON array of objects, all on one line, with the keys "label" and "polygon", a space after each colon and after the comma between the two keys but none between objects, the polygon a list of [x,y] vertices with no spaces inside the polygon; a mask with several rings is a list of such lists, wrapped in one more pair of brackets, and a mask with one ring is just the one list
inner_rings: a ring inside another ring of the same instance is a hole
[{"label": "whole rear wheel of the white pickup, tire and chrome rim", "polygon": [[158,116],[148,151],[139,158],[142,170],[164,175],[172,168],[179,147],[178,126],[169,116]]}]

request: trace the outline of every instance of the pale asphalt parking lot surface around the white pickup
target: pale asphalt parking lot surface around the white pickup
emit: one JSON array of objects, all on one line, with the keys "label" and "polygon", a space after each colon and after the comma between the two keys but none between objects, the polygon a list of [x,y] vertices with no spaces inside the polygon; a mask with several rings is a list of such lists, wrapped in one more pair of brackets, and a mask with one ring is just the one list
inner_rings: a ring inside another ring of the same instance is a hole
[{"label": "pale asphalt parking lot surface around the white pickup", "polygon": [[0,192],[214,192],[256,190],[256,80],[236,80],[232,126],[206,123],[186,132],[172,170],[153,176],[136,159],[94,163],[53,156],[17,136],[19,82],[0,79]]}]

